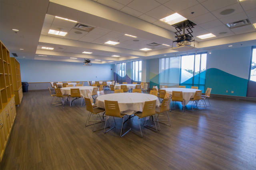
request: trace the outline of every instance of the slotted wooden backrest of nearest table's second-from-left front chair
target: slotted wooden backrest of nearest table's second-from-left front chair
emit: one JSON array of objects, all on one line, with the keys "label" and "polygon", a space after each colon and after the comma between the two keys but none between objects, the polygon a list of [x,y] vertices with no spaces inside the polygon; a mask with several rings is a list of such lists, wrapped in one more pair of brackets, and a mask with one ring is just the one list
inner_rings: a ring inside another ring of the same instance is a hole
[{"label": "slotted wooden backrest of nearest table's second-from-left front chair", "polygon": [[108,116],[121,117],[117,101],[105,100],[105,114]]}]

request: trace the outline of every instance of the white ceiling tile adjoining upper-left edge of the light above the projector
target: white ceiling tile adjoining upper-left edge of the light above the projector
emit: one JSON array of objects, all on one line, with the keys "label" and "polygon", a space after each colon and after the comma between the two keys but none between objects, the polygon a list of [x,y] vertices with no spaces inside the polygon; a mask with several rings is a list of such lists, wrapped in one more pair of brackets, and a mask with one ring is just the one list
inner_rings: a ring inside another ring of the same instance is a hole
[{"label": "white ceiling tile adjoining upper-left edge of the light above the projector", "polygon": [[171,14],[174,14],[175,12],[173,10],[170,10],[166,6],[158,6],[154,8],[153,10],[147,12],[146,14],[148,16],[151,16],[153,18],[156,18],[157,20],[160,20],[166,16],[170,16]]}]

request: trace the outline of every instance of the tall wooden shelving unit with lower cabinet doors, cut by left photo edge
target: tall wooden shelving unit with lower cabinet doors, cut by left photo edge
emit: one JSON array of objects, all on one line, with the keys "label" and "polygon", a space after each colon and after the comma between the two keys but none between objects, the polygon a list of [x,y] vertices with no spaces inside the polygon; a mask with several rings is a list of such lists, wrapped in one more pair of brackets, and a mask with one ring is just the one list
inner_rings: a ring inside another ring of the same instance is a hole
[{"label": "tall wooden shelving unit with lower cabinet doors, cut by left photo edge", "polygon": [[10,52],[0,41],[0,161],[16,117]]}]

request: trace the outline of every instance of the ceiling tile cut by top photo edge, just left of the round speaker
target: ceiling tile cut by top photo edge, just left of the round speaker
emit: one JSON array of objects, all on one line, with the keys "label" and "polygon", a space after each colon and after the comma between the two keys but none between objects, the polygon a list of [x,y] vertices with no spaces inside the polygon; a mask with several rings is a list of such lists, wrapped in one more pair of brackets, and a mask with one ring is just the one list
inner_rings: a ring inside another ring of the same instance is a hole
[{"label": "ceiling tile cut by top photo edge, just left of the round speaker", "polygon": [[215,11],[236,3],[238,3],[237,0],[207,0],[202,5],[209,11]]}]

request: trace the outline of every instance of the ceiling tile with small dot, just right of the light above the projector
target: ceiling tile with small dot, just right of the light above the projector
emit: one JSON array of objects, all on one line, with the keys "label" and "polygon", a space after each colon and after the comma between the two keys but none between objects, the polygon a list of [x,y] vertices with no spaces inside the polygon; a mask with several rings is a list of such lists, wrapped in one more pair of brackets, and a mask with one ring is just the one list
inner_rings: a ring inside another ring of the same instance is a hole
[{"label": "ceiling tile with small dot, just right of the light above the projector", "polygon": [[[191,14],[191,12],[194,12],[194,14]],[[187,8],[186,10],[180,11],[179,14],[184,16],[185,18],[190,19],[190,18],[194,18],[197,16],[201,16],[208,12],[209,11],[206,8],[204,8],[201,4],[197,4],[195,6]]]}]

